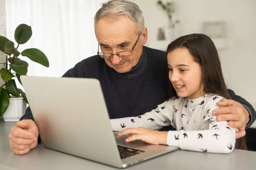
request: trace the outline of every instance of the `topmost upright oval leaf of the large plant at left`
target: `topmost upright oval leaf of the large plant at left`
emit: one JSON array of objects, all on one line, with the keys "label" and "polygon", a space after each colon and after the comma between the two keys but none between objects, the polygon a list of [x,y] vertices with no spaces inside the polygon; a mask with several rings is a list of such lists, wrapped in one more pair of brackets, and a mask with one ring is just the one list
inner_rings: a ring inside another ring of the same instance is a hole
[{"label": "topmost upright oval leaf of the large plant at left", "polygon": [[14,33],[14,38],[18,44],[26,43],[32,36],[31,27],[26,24],[20,24]]}]

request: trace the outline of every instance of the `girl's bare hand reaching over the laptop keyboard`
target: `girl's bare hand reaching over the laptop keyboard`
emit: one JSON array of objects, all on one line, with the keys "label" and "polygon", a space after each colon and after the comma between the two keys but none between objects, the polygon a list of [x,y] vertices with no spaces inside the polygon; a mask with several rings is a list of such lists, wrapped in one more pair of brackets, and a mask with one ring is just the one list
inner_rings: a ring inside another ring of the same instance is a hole
[{"label": "girl's bare hand reaching over the laptop keyboard", "polygon": [[142,140],[150,144],[164,144],[166,145],[167,131],[156,131],[146,128],[127,128],[118,134],[118,138],[127,135],[126,142],[133,140]]}]

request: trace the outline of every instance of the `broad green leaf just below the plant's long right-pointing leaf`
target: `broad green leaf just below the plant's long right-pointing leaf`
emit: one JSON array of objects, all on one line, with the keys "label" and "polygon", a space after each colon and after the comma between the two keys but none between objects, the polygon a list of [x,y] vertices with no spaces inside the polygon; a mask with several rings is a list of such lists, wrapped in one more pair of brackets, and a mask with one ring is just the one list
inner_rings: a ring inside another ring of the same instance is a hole
[{"label": "broad green leaf just below the plant's long right-pointing leaf", "polygon": [[28,63],[15,57],[10,64],[10,68],[14,70],[17,74],[26,75],[28,72]]}]

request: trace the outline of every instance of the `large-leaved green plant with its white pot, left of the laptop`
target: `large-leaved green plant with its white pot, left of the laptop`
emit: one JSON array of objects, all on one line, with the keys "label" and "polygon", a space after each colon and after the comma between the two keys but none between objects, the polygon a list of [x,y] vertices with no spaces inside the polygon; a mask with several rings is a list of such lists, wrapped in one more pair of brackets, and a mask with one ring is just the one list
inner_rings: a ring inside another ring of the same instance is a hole
[{"label": "large-leaved green plant with its white pot, left of the laptop", "polygon": [[[20,54],[28,57],[30,60],[37,62],[45,67],[49,67],[49,61],[45,54],[39,49],[30,48],[22,52],[18,51],[20,44],[26,43],[32,36],[31,27],[26,24],[20,24],[14,34],[15,44],[4,36],[0,36],[0,51],[6,54],[5,68],[0,69],[0,76],[3,84],[0,85],[0,117],[3,116],[4,121],[18,121],[26,108],[26,95],[17,87],[16,83],[20,83],[20,75],[26,75],[28,71],[28,63],[21,59]],[[12,102],[21,101],[20,108],[23,110],[15,113]],[[14,114],[14,116],[12,116]]]}]

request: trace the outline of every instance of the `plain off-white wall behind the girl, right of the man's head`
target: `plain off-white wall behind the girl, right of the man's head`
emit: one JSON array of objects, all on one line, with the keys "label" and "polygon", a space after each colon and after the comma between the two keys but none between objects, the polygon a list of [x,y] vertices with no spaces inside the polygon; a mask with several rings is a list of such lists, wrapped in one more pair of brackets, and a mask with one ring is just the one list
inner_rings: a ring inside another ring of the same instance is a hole
[{"label": "plain off-white wall behind the girl, right of the man's head", "polygon": [[[158,27],[167,17],[157,0],[131,0],[138,4],[148,28],[148,42],[157,40]],[[176,37],[201,33],[204,21],[225,21],[226,48],[218,49],[226,84],[256,108],[256,0],[172,0],[180,20]],[[150,44],[150,43],[149,43]]]}]

